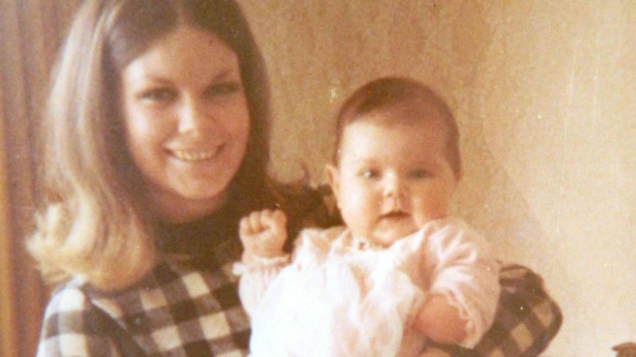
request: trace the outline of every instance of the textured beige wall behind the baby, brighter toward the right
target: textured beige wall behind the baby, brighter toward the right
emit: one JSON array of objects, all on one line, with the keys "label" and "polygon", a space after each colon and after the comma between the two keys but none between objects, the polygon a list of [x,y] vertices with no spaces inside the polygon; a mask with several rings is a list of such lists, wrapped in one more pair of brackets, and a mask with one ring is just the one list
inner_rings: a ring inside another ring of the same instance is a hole
[{"label": "textured beige wall behind the baby, brighter toward the right", "polygon": [[562,306],[546,355],[636,340],[634,1],[242,3],[270,71],[279,177],[305,161],[322,180],[354,88],[417,77],[460,123],[460,213]]}]

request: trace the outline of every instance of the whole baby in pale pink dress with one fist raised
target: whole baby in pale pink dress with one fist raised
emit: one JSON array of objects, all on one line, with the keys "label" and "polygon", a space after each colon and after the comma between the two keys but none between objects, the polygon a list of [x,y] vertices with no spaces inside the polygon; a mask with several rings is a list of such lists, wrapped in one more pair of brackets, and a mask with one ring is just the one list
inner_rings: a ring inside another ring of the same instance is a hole
[{"label": "whole baby in pale pink dress with one fist raised", "polygon": [[354,92],[336,119],[326,173],[346,226],[305,229],[290,259],[284,213],[240,222],[235,268],[251,356],[432,356],[429,340],[473,347],[494,318],[499,264],[449,216],[462,177],[450,109],[421,83],[388,77]]}]

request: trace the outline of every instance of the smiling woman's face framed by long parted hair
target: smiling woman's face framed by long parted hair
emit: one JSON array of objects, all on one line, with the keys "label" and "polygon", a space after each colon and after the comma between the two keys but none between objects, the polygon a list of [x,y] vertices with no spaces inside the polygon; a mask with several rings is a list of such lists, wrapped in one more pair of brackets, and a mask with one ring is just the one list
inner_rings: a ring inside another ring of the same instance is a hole
[{"label": "smiling woman's face framed by long parted hair", "polygon": [[127,148],[163,217],[200,217],[223,202],[249,136],[239,59],[218,37],[181,26],[121,74]]}]

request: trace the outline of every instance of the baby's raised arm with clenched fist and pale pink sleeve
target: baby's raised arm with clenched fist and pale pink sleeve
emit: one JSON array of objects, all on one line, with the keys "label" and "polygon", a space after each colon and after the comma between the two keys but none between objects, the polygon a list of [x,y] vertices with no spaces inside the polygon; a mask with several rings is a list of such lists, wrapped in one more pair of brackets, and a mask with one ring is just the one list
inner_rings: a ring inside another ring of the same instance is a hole
[{"label": "baby's raised arm with clenched fist and pale pink sleeve", "polygon": [[240,220],[239,238],[244,251],[235,273],[240,274],[239,297],[249,316],[289,260],[282,250],[287,240],[286,224],[287,217],[280,210],[252,212]]}]

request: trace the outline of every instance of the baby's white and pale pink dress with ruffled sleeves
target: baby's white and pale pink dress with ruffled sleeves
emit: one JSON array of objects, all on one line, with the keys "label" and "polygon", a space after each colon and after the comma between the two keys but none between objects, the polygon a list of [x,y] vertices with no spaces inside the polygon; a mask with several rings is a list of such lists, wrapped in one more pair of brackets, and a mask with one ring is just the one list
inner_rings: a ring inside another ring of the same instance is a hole
[{"label": "baby's white and pale pink dress with ruffled sleeves", "polygon": [[467,320],[473,347],[494,318],[499,264],[459,219],[434,220],[388,248],[345,227],[306,229],[287,257],[239,264],[239,294],[251,318],[252,357],[418,356],[412,326],[430,293]]}]

